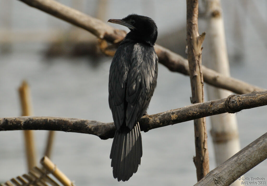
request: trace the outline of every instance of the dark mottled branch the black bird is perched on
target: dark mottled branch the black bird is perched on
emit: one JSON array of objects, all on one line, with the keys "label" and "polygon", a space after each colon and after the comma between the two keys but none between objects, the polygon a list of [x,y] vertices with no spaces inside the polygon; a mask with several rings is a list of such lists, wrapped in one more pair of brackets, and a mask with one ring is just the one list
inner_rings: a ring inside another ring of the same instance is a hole
[{"label": "dark mottled branch the black bird is perched on", "polygon": [[[222,113],[235,113],[267,105],[267,90],[185,106],[179,109],[143,116],[139,121],[142,131],[173,125],[202,117]],[[93,134],[101,139],[113,138],[115,126],[112,123],[62,117],[7,117],[0,118],[0,131],[4,130],[57,130]]]}]

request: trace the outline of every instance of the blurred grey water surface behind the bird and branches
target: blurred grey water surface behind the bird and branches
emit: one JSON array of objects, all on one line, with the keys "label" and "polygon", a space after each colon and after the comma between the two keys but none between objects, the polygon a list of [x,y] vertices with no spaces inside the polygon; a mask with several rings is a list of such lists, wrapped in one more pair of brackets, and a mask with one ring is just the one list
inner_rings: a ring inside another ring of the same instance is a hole
[{"label": "blurred grey water surface behind the bird and branches", "polygon": [[[1,3],[5,1],[8,0],[1,0]],[[71,6],[69,1],[60,2]],[[85,2],[88,14],[92,13],[96,1]],[[149,2],[153,2],[152,7],[144,5],[141,1],[109,1],[107,20],[121,18],[132,12],[147,15],[157,23],[159,36],[177,26],[184,26],[185,1]],[[47,20],[68,27],[68,24],[50,18],[45,13],[21,2],[12,1],[12,3],[13,29],[31,27],[45,30],[48,29]],[[267,53],[263,39],[257,34],[257,28],[252,26],[250,19],[244,17],[242,22],[244,56],[239,63],[233,58],[231,60],[231,54],[239,47],[235,45],[234,25],[231,21],[234,8],[229,6],[231,1],[223,1],[222,5],[231,76],[266,88]],[[257,1],[256,5],[266,21],[266,2]],[[206,30],[204,28],[201,31]],[[21,81],[25,79],[31,87],[35,116],[60,116],[111,122],[112,115],[108,107],[108,73],[112,58],[103,58],[102,62],[93,68],[86,57],[56,57],[47,60],[43,56],[46,47],[47,45],[43,43],[19,43],[12,45],[11,53],[0,55],[0,117],[20,116],[17,90]],[[190,96],[189,77],[170,72],[160,64],[158,84],[148,113],[159,113],[189,105]],[[266,106],[242,110],[235,115],[238,119],[241,148],[267,131]],[[207,118],[207,130],[210,130],[209,118]],[[22,134],[22,131],[0,132],[0,182],[26,172]],[[35,133],[39,159],[44,151],[46,135],[46,131]],[[57,132],[52,161],[71,180],[75,180],[76,185],[193,185],[197,182],[193,163],[195,155],[193,121],[143,132],[142,139],[141,166],[127,182],[119,183],[113,179],[109,159],[112,139],[100,140],[93,135]],[[212,170],[216,165],[209,134],[208,148],[210,170]],[[267,161],[250,170],[245,177],[264,177],[266,180]]]}]

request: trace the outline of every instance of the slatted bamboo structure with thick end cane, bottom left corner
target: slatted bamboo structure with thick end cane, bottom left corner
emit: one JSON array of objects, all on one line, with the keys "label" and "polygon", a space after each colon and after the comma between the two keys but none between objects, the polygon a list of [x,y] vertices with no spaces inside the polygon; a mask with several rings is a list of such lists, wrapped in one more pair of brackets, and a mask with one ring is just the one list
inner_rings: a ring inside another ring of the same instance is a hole
[{"label": "slatted bamboo structure with thick end cane, bottom left corner", "polygon": [[[43,167],[33,167],[28,174],[17,176],[12,178],[5,183],[0,184],[1,186],[75,186],[68,177],[62,173],[56,165],[48,159],[43,157],[40,162]],[[57,180],[53,179],[52,174]]]}]

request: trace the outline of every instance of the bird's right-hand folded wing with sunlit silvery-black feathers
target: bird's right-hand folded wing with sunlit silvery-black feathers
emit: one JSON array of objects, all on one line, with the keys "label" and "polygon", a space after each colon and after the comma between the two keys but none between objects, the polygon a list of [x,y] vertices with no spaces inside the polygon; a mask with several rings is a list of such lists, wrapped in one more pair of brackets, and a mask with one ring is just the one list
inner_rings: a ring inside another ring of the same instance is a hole
[{"label": "bird's right-hand folded wing with sunlit silvery-black feathers", "polygon": [[152,47],[148,54],[142,51],[147,49],[146,47],[136,43],[127,76],[125,121],[129,129],[132,129],[143,116],[156,86],[158,57]]}]

